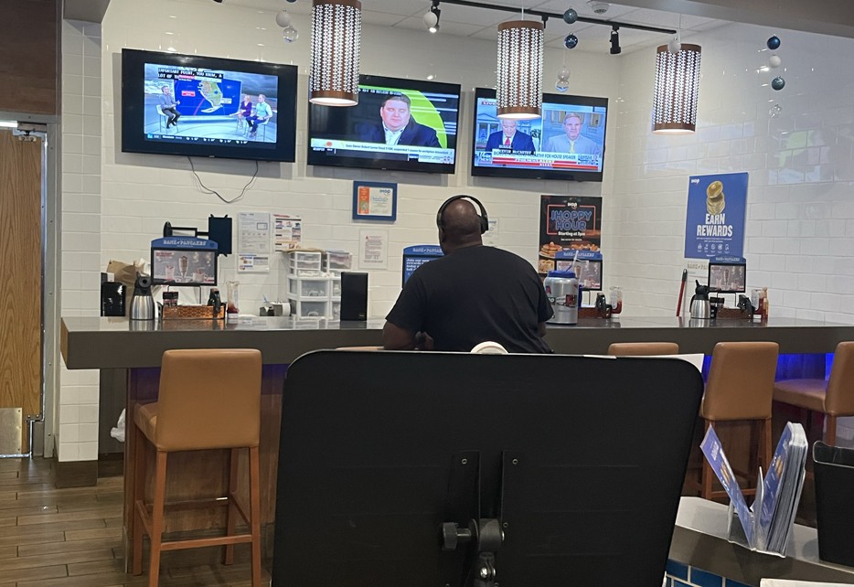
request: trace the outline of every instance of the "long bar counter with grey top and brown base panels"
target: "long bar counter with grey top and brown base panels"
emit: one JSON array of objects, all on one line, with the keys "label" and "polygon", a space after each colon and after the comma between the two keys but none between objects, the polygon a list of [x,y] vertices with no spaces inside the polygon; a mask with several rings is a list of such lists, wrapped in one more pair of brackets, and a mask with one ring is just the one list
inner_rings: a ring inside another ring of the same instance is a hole
[{"label": "long bar counter with grey top and brown base panels", "polygon": [[[252,347],[262,351],[262,524],[264,542],[270,548],[269,531],[275,514],[275,484],[278,463],[279,430],[283,383],[287,365],[304,353],[335,347],[377,346],[381,343],[384,320],[364,323],[298,320],[293,317],[251,317],[237,321],[174,320],[131,323],[122,318],[63,318],[61,353],[69,369],[101,369],[101,381],[121,382],[108,393],[121,398],[128,413],[137,403],[155,401],[163,352],[172,348]],[[768,322],[747,320],[709,321],[694,326],[677,317],[629,317],[611,320],[582,319],[577,326],[549,326],[547,340],[561,354],[604,354],[614,342],[672,341],[683,353],[710,354],[720,341],[771,340],[779,343],[781,353],[823,354],[833,352],[838,342],[854,340],[854,326],[809,320],[771,318]],[[101,387],[101,402],[104,401]],[[133,422],[129,415],[128,422]],[[101,426],[112,422],[101,422]],[[133,424],[131,424],[133,425]],[[134,435],[127,435],[125,455],[133,455]],[[224,452],[177,454],[170,457],[170,470],[176,472],[167,485],[167,498],[196,496],[202,489],[224,490]],[[174,458],[174,465],[173,465]],[[148,460],[153,459],[153,451]],[[133,504],[129,503],[133,486],[133,463],[125,458],[125,539],[132,536]],[[74,462],[79,475],[73,485],[94,485],[97,462]],[[58,486],[64,467],[58,466]],[[245,463],[240,466],[245,466]],[[69,486],[69,485],[65,485]],[[240,488],[240,493],[244,490]],[[190,528],[221,528],[219,513],[201,517],[167,518],[167,532]],[[126,542],[126,547],[129,544]],[[126,550],[128,551],[128,550]],[[126,559],[127,560],[127,559]]]}]

